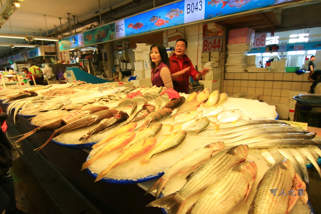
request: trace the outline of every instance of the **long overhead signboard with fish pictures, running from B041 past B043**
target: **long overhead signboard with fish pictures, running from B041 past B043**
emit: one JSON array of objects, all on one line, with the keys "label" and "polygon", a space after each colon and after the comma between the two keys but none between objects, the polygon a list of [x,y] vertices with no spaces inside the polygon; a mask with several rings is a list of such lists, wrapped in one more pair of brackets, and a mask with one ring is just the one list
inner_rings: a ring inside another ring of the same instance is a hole
[{"label": "long overhead signboard with fish pictures, running from B041 past B043", "polygon": [[[102,25],[98,28],[59,41],[65,51],[139,35],[146,32],[179,26],[195,21],[213,19],[254,9],[282,5],[297,0],[183,0]],[[307,0],[312,1],[312,0]],[[82,39],[81,39],[82,38]],[[83,42],[82,42],[83,41]],[[262,42],[260,42],[261,44]],[[261,46],[263,47],[263,46]],[[258,47],[258,48],[261,48]],[[262,48],[261,48],[262,49]]]}]

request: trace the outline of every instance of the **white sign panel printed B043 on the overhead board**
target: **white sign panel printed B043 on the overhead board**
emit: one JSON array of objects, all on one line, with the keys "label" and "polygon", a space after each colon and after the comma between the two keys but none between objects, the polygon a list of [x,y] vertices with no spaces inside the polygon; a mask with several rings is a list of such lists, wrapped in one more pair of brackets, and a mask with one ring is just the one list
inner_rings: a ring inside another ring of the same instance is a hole
[{"label": "white sign panel printed B043 on the overhead board", "polygon": [[185,0],[184,23],[204,20],[205,1],[204,0]]}]

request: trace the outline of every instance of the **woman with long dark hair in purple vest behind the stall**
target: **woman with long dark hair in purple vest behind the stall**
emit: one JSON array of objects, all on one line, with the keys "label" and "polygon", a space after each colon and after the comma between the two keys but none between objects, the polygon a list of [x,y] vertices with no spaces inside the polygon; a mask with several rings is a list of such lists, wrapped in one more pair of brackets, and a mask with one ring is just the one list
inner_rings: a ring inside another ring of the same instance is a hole
[{"label": "woman with long dark hair in purple vest behind the stall", "polygon": [[173,81],[169,70],[169,59],[163,45],[154,44],[151,46],[149,55],[152,67],[152,84],[162,86],[163,90],[173,88]]}]

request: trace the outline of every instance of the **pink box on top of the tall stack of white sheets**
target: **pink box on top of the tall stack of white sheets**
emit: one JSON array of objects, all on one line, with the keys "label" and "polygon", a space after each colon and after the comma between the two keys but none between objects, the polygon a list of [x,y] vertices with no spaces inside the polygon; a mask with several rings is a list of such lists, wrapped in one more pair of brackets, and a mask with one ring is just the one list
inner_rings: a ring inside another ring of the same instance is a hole
[{"label": "pink box on top of the tall stack of white sheets", "polygon": [[229,31],[229,45],[247,43],[250,46],[254,42],[255,30],[251,28],[239,28]]}]

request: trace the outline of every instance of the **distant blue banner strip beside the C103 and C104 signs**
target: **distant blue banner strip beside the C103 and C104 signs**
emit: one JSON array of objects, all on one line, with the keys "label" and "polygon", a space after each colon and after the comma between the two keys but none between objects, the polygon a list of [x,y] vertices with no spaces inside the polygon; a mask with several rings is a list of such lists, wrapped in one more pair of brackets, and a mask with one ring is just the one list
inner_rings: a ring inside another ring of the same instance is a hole
[{"label": "distant blue banner strip beside the C103 and C104 signs", "polygon": [[[284,51],[306,51],[306,50],[321,50],[321,41],[320,42],[303,42],[303,43],[290,43],[290,44],[278,44],[278,52]],[[248,53],[257,54],[265,53],[265,47],[252,48]]]}]

